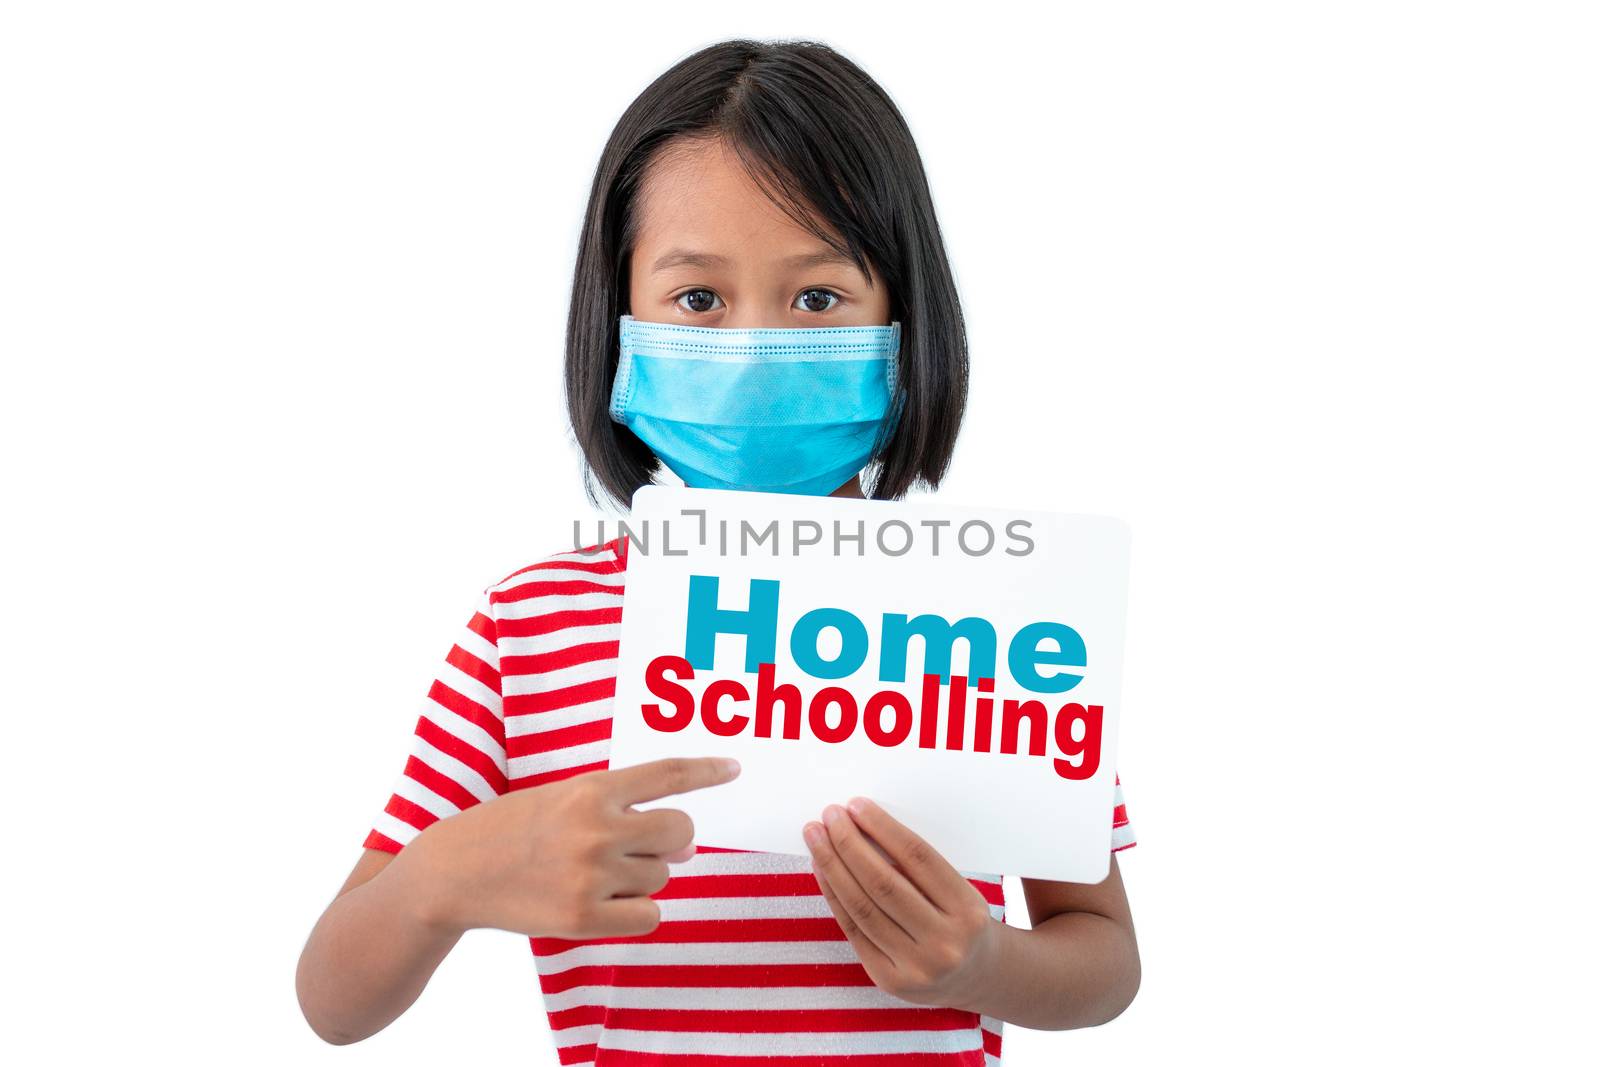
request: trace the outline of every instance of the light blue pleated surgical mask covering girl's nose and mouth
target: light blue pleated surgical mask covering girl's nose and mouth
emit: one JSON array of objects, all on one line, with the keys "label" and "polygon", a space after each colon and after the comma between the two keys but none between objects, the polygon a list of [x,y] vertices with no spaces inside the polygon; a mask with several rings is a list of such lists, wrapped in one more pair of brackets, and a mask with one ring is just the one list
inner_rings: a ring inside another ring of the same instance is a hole
[{"label": "light blue pleated surgical mask covering girl's nose and mouth", "polygon": [[621,318],[611,418],[683,483],[826,496],[888,442],[901,326],[725,330]]}]

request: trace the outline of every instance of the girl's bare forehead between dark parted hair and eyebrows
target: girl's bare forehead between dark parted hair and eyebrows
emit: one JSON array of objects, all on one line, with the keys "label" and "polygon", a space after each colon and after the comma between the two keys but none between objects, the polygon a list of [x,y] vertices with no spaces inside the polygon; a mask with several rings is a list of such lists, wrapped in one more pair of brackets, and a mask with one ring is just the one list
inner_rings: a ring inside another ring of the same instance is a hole
[{"label": "girl's bare forehead between dark parted hair and eyebrows", "polygon": [[635,269],[693,248],[734,262],[766,262],[829,246],[784,214],[722,141],[672,144],[645,171],[635,203]]}]

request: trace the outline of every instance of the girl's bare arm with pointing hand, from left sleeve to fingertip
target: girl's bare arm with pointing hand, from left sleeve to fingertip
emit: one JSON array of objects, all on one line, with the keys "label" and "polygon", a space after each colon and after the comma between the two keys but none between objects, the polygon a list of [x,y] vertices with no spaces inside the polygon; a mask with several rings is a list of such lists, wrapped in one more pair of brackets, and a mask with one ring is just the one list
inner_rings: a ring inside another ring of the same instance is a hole
[{"label": "girl's bare arm with pointing hand, from left sleeve to fingertip", "polygon": [[317,920],[294,992],[310,1029],[349,1045],[394,1022],[469,929],[630,937],[694,854],[675,808],[632,805],[733,781],[731,760],[666,758],[520,789],[438,819],[398,854],[366,849]]}]

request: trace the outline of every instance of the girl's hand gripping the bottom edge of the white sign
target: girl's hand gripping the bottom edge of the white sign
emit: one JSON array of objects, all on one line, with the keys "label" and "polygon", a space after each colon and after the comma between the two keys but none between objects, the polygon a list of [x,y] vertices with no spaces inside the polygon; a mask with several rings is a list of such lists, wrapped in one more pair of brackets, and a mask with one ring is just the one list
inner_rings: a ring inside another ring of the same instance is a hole
[{"label": "girl's hand gripping the bottom edge of the white sign", "polygon": [[816,881],[872,981],[917,1005],[973,1001],[1000,949],[984,896],[870,800],[829,805],[822,824],[802,830]]}]

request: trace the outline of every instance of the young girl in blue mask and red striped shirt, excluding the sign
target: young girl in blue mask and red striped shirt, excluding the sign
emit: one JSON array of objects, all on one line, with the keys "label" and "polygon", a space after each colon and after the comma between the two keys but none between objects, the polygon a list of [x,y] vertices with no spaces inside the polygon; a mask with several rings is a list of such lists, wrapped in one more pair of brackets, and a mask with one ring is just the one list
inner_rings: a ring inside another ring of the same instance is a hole
[{"label": "young girl in blue mask and red striped shirt, excluding the sign", "polygon": [[[642,344],[624,325],[707,344],[619,384],[621,350]],[[893,344],[877,362],[800,360],[774,338]],[[624,507],[661,464],[698,486],[861,498],[862,472],[875,499],[936,486],[966,341],[922,160],[883,90],[824,45],[749,40],[646,88],[595,174],[566,390],[590,498],[598,485]],[[610,768],[626,568],[619,537],[483,590],[301,955],[318,1035],[392,1022],[480,926],[530,937],[562,1064],[982,1067],[1005,1021],[1094,1025],[1133,1000],[1115,857],[1099,885],[1022,878],[1024,931],[1005,923],[998,873],[954,870],[867,798],[818,813],[810,856],[696,849],[682,811],[630,808],[738,769]],[[1130,845],[1118,785],[1112,848]]]}]

